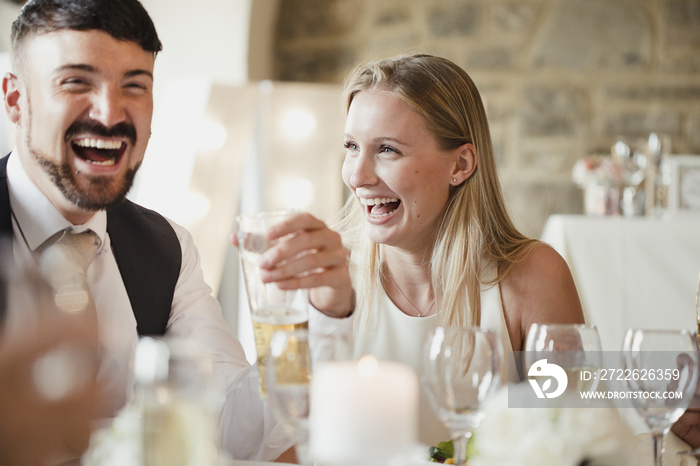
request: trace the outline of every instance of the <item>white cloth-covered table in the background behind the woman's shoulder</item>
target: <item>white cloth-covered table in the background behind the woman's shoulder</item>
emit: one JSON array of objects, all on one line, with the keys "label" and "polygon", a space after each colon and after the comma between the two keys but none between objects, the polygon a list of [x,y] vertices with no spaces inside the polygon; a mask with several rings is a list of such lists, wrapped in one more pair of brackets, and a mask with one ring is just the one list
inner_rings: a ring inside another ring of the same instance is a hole
[{"label": "white cloth-covered table in the background behind the woman's shoulder", "polygon": [[542,240],[569,264],[604,351],[629,327],[696,329],[700,218],[552,215]]}]

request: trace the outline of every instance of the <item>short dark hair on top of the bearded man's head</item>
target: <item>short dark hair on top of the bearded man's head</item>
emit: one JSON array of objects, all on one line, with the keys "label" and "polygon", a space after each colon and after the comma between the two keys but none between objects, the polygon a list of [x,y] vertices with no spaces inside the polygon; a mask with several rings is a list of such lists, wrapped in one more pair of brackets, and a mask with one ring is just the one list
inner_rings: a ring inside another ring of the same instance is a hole
[{"label": "short dark hair on top of the bearded man's head", "polygon": [[138,0],[30,0],[12,23],[13,60],[16,63],[26,37],[65,29],[103,31],[117,40],[135,42],[154,55],[163,48],[151,17]]}]

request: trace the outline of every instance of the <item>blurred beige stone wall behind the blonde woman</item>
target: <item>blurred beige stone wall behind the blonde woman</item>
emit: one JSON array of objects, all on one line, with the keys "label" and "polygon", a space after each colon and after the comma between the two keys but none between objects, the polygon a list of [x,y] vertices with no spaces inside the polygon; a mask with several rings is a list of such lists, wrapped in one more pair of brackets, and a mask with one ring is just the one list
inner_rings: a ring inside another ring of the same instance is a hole
[{"label": "blurred beige stone wall behind the blonde woman", "polygon": [[[341,83],[408,51],[466,69],[516,223],[580,213],[581,156],[668,134],[700,154],[700,0],[281,0],[274,79]],[[339,141],[340,144],[340,141]]]}]

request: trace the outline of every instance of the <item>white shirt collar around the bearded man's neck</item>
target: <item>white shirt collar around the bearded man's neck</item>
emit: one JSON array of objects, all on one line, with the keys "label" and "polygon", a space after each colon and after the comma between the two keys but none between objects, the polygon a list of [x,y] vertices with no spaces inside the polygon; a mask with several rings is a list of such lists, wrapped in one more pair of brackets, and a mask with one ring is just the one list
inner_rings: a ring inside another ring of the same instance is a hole
[{"label": "white shirt collar around the bearded man's neck", "polygon": [[65,229],[74,233],[92,230],[100,238],[101,244],[105,244],[107,213],[104,210],[97,211],[84,224],[73,225],[56,210],[29,178],[16,151],[10,154],[7,161],[7,186],[10,192],[10,208],[27,246],[32,251],[55,233]]}]

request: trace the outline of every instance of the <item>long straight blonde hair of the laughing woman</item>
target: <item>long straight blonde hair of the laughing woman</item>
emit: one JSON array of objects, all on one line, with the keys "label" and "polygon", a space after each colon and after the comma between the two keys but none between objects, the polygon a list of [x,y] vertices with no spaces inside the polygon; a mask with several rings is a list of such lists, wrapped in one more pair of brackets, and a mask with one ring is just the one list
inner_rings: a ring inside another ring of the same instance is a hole
[{"label": "long straight blonde hair of the laughing woman", "polygon": [[[358,92],[388,92],[423,116],[443,150],[471,143],[477,167],[461,185],[452,187],[429,256],[433,292],[441,325],[480,325],[481,287],[495,284],[537,243],[513,225],[501,193],[486,112],[467,73],[451,61],[432,55],[402,55],[355,68],[345,81],[346,111]],[[350,196],[335,227],[353,251],[358,289],[356,322],[368,311],[384,273],[383,248],[365,234],[364,215]],[[485,264],[498,273],[486,282]],[[364,315],[364,317],[362,317]]]}]

